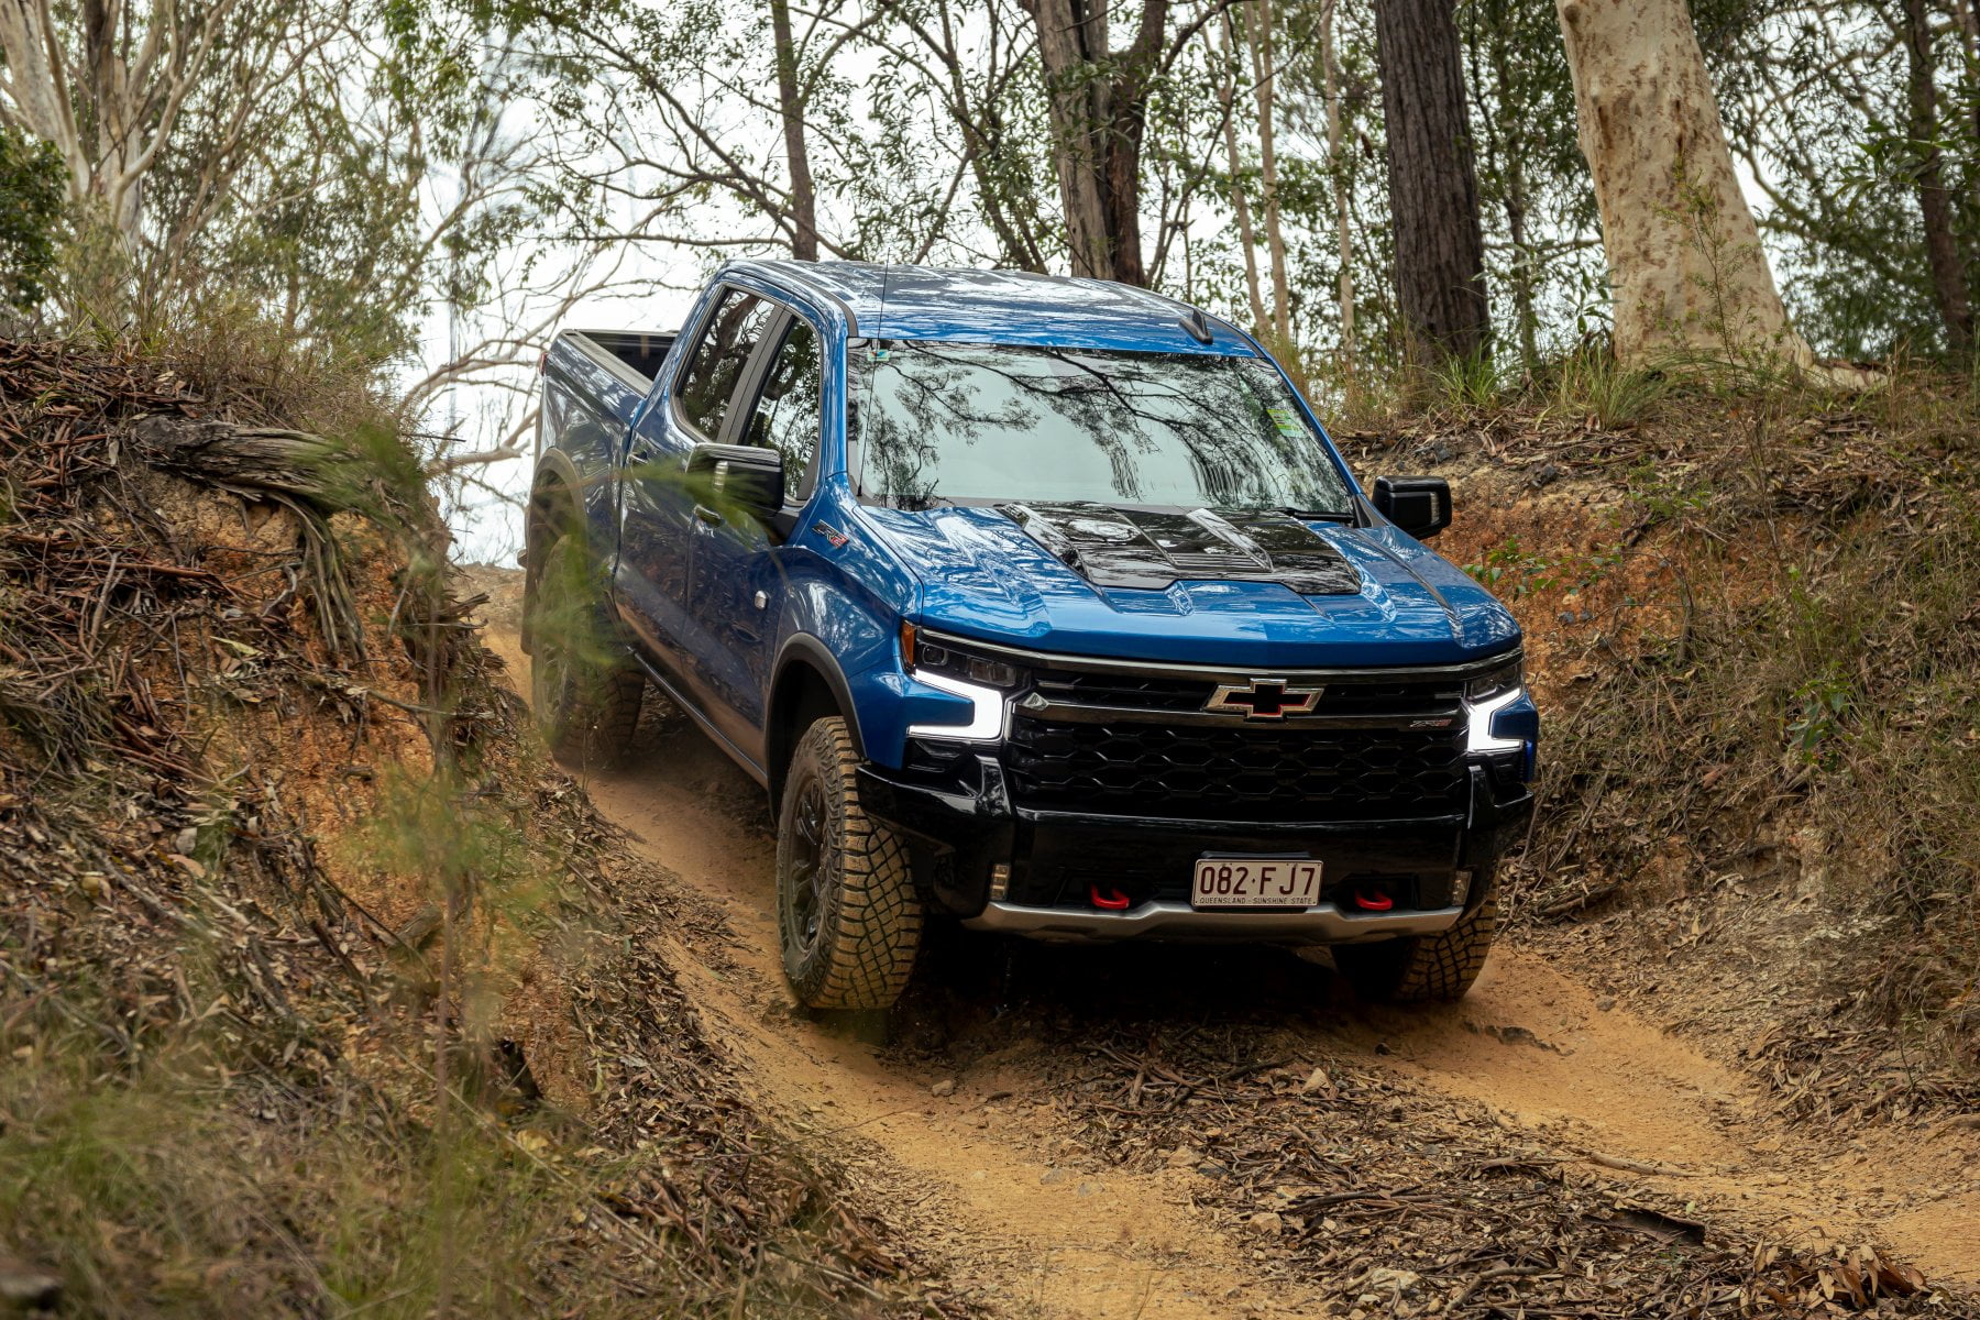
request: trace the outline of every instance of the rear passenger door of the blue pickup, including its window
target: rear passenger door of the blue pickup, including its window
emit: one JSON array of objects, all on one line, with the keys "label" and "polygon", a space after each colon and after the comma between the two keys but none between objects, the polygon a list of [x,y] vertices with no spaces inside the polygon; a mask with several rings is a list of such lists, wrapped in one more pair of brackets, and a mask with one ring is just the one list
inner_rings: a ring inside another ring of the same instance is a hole
[{"label": "rear passenger door of the blue pickup, including its window", "polygon": [[707,647],[687,608],[701,526],[685,483],[687,455],[697,443],[725,435],[746,366],[780,315],[780,307],[752,293],[719,289],[691,330],[693,346],[679,356],[677,374],[655,382],[626,449],[618,560],[626,623],[705,714],[709,697],[695,657]]}]

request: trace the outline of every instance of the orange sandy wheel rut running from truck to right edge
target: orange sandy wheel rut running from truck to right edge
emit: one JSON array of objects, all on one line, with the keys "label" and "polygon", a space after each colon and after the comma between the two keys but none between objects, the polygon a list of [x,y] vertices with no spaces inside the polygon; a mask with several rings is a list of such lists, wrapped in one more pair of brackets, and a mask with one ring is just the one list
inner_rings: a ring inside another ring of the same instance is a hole
[{"label": "orange sandy wheel rut running from truck to right edge", "polygon": [[1384,1045],[1402,1071],[1556,1150],[1671,1170],[1624,1168],[1774,1241],[1879,1239],[1927,1278],[1980,1284],[1970,1128],[1786,1124],[1750,1079],[1517,948],[1493,952],[1463,1003],[1362,1009],[1331,1035]]}]

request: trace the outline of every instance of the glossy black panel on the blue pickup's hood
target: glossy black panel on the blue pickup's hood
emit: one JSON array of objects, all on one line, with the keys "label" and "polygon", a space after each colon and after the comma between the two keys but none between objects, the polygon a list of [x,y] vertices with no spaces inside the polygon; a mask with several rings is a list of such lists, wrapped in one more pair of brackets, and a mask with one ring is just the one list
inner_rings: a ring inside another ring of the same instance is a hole
[{"label": "glossy black panel on the blue pickup's hood", "polygon": [[998,505],[1053,558],[1101,588],[1279,582],[1301,596],[1354,596],[1360,574],[1283,513],[1138,513],[1111,505]]}]

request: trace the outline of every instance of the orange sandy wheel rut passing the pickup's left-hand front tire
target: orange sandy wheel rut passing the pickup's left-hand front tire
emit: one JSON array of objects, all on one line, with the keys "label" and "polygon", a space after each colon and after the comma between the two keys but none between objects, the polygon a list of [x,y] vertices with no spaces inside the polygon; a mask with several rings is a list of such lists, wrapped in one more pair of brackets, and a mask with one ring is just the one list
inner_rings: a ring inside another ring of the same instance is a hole
[{"label": "orange sandy wheel rut passing the pickup's left-hand front tire", "polygon": [[[513,635],[491,635],[527,687]],[[834,1144],[869,1197],[937,1241],[956,1282],[994,1314],[1222,1320],[1311,1314],[1311,1292],[1265,1278],[1186,1207],[1182,1179],[1077,1172],[1032,1140],[1026,1096],[909,1077],[855,1035],[790,1007],[768,900],[774,841],[762,790],[685,720],[624,774],[590,776],[600,811],[649,861],[719,906],[737,942],[673,958],[715,1039],[746,1063],[766,1110]],[[954,1079],[950,1079],[954,1081]]]}]

